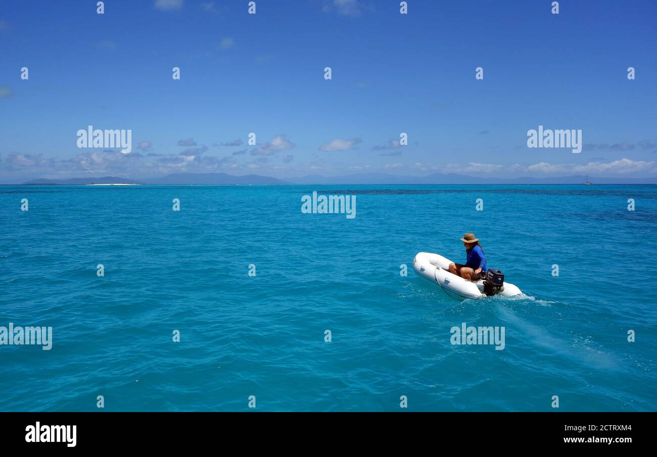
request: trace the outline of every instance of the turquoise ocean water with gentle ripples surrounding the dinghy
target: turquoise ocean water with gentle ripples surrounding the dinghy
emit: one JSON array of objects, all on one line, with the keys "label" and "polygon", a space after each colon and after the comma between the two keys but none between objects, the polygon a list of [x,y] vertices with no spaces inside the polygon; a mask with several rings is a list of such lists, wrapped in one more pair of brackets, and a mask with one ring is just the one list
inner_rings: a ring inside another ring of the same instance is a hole
[{"label": "turquoise ocean water with gentle ripples surrounding the dinghy", "polygon": [[[465,232],[524,295],[415,274]],[[0,345],[2,411],[657,410],[657,186],[0,186],[0,235],[0,326],[53,335]]]}]

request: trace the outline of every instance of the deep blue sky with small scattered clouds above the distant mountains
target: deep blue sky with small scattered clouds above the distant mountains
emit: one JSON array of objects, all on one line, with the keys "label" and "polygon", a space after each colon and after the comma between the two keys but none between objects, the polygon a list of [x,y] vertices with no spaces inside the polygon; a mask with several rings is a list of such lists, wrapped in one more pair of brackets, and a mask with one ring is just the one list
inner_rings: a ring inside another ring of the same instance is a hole
[{"label": "deep blue sky with small scattered clouds above the distant mountains", "polygon": [[[0,181],[657,176],[655,1],[247,3],[3,0]],[[133,152],[78,148],[88,125]],[[539,125],[581,129],[582,152],[528,148]]]}]

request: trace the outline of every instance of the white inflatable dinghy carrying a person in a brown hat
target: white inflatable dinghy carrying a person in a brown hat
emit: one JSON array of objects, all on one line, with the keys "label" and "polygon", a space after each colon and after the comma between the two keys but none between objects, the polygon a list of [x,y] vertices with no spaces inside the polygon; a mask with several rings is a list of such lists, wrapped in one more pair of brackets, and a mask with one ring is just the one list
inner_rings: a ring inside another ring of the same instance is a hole
[{"label": "white inflatable dinghy carrying a person in a brown hat", "polygon": [[[413,259],[413,269],[422,278],[428,279],[434,284],[438,284],[445,294],[452,298],[464,300],[468,298],[487,297],[486,279],[480,279],[477,282],[468,281],[461,276],[449,272],[451,260],[445,259],[442,255],[428,252],[420,252]],[[513,284],[504,282],[499,292],[495,295],[503,297],[512,297],[513,295],[522,294]],[[491,294],[493,295],[493,294]]]}]

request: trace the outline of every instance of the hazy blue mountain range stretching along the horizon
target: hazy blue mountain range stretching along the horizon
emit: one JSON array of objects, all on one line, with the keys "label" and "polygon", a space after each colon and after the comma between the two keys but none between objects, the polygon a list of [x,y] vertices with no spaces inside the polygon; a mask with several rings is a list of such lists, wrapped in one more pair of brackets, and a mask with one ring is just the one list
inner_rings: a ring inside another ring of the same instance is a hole
[{"label": "hazy blue mountain range stretching along the horizon", "polygon": [[[104,176],[100,178],[71,178],[71,179],[35,179],[23,183],[24,185],[89,185],[89,184],[143,184],[143,185],[261,185],[261,184],[582,184],[586,181],[584,175],[572,175],[550,178],[480,178],[455,173],[434,173],[432,175],[398,176],[386,173],[361,173],[336,177],[309,175],[304,177],[277,179],[260,175],[233,176],[226,173],[172,173],[156,179],[135,179]],[[657,177],[652,178],[596,178],[589,177],[595,184],[656,184]]]}]

